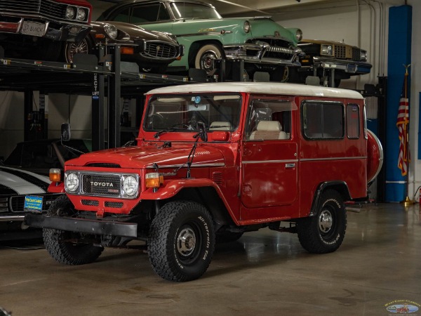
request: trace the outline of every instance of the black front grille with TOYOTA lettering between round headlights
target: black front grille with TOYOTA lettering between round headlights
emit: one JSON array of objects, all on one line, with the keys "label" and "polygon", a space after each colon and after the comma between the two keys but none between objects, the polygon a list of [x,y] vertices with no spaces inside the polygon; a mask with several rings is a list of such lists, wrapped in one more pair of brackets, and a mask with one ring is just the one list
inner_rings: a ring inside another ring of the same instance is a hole
[{"label": "black front grille with TOYOTA lettering between round headlights", "polygon": [[120,176],[116,174],[83,174],[82,191],[88,195],[119,197]]}]

